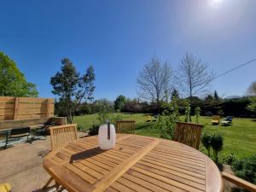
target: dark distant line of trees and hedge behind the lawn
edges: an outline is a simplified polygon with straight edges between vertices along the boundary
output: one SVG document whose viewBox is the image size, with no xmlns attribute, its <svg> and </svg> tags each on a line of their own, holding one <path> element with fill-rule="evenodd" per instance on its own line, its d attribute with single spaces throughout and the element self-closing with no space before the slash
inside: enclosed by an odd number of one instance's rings
<svg viewBox="0 0 256 192">
<path fill-rule="evenodd" d="M 124 96 L 123 96 L 124 97 Z M 125 97 L 124 97 L 125 98 Z M 194 114 L 195 108 L 201 108 L 201 115 L 212 116 L 235 116 L 235 117 L 255 117 L 255 113 L 247 110 L 247 105 L 250 103 L 249 97 L 239 97 L 222 99 L 215 98 L 213 96 L 207 96 L 205 99 L 201 99 L 197 96 L 192 98 L 186 98 L 190 101 L 191 114 Z M 185 99 L 178 99 L 179 113 L 184 113 L 184 101 Z M 62 116 L 61 105 L 55 103 L 55 114 Z M 98 113 L 102 110 L 108 110 L 110 112 L 123 112 L 123 113 L 161 113 L 165 110 L 165 102 L 161 105 L 160 112 L 156 102 L 141 102 L 138 99 L 126 99 L 117 97 L 114 102 L 110 102 L 107 99 L 96 100 L 91 103 L 83 103 L 81 107 L 76 111 L 75 115 Z"/>
</svg>

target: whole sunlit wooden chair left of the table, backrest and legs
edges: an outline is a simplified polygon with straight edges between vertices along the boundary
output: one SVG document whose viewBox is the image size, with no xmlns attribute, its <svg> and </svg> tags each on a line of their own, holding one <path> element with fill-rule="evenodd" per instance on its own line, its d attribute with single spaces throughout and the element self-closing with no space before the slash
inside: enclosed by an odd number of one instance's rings
<svg viewBox="0 0 256 192">
<path fill-rule="evenodd" d="M 51 150 L 57 150 L 62 146 L 78 139 L 77 125 L 58 125 L 51 126 L 50 131 L 50 142 Z M 60 186 L 59 183 L 55 181 L 55 185 L 49 187 L 49 183 L 55 180 L 53 177 L 50 177 L 47 183 L 42 188 L 43 191 L 49 191 L 49 189 L 56 188 L 56 191 L 62 191 L 64 188 Z"/>
</svg>

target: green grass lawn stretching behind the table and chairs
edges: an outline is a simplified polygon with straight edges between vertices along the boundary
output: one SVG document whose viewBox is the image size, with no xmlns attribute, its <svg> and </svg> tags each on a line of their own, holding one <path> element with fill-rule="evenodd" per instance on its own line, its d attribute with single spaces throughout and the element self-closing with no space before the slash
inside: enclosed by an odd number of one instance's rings
<svg viewBox="0 0 256 192">
<path fill-rule="evenodd" d="M 136 134 L 149 137 L 159 137 L 159 131 L 151 128 L 151 123 L 145 122 L 146 114 L 123 113 L 123 119 L 133 119 L 137 122 Z M 193 120 L 193 119 L 192 119 Z M 201 117 L 200 122 L 204 126 L 203 132 L 218 132 L 224 137 L 224 149 L 220 153 L 220 158 L 224 154 L 234 152 L 238 158 L 256 154 L 256 119 L 234 118 L 233 125 L 220 126 L 212 125 L 211 117 Z M 88 130 L 93 122 L 97 121 L 97 114 L 89 114 L 74 118 L 74 123 L 82 125 Z M 201 150 L 206 153 L 204 148 Z"/>
</svg>

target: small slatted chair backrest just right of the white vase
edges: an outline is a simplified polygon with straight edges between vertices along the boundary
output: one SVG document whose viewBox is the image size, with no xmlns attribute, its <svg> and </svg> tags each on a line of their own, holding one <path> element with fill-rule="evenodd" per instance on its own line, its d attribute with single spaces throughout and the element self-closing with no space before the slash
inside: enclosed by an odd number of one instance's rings
<svg viewBox="0 0 256 192">
<path fill-rule="evenodd" d="M 115 131 L 116 133 L 134 134 L 135 126 L 135 120 L 117 120 L 115 122 Z"/>
</svg>

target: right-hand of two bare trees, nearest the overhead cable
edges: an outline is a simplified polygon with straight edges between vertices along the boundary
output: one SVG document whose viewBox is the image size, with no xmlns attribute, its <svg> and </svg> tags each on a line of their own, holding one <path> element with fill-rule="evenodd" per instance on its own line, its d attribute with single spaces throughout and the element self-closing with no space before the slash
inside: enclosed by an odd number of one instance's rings
<svg viewBox="0 0 256 192">
<path fill-rule="evenodd" d="M 207 72 L 207 64 L 194 55 L 183 56 L 177 71 L 177 79 L 183 92 L 191 98 L 204 90 L 213 80 L 214 74 Z"/>
</svg>

